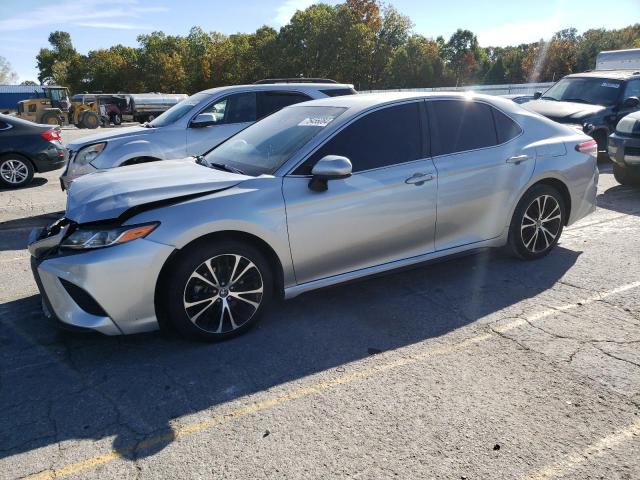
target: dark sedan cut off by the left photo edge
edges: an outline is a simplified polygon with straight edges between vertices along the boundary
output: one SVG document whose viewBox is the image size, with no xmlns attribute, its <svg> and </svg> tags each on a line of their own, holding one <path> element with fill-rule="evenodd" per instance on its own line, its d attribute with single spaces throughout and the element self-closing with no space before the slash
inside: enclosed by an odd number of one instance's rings
<svg viewBox="0 0 640 480">
<path fill-rule="evenodd" d="M 0 187 L 27 185 L 35 172 L 62 168 L 60 128 L 0 114 Z"/>
</svg>

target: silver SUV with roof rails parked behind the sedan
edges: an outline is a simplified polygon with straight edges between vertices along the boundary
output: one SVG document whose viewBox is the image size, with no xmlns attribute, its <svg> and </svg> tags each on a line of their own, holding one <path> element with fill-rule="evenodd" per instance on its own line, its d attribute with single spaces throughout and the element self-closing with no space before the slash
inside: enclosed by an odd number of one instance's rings
<svg viewBox="0 0 640 480">
<path fill-rule="evenodd" d="M 288 105 L 354 93 L 353 85 L 323 79 L 260 80 L 253 85 L 204 90 L 143 126 L 72 142 L 60 184 L 65 190 L 73 180 L 87 173 L 202 155 L 256 120 Z"/>
</svg>

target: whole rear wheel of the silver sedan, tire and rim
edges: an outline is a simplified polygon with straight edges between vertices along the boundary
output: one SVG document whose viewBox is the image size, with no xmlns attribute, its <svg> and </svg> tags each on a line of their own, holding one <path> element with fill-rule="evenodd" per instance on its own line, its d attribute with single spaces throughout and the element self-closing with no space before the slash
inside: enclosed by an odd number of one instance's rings
<svg viewBox="0 0 640 480">
<path fill-rule="evenodd" d="M 566 207 L 560 192 L 549 185 L 534 185 L 513 213 L 511 252 L 524 260 L 544 257 L 557 245 L 565 223 Z"/>
</svg>

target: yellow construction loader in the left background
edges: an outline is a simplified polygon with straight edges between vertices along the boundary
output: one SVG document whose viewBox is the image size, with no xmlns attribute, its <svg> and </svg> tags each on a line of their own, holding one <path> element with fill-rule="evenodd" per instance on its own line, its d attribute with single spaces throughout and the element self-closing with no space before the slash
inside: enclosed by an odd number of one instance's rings
<svg viewBox="0 0 640 480">
<path fill-rule="evenodd" d="M 18 102 L 18 117 L 49 125 L 73 124 L 91 129 L 100 126 L 97 102 L 71 102 L 67 87 L 47 85 L 43 88 L 43 97 Z"/>
</svg>

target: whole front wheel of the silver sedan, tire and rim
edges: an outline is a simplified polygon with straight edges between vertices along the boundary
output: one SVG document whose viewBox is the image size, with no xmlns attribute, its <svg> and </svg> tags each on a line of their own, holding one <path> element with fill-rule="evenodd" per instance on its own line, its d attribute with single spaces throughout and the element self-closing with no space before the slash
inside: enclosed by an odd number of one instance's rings
<svg viewBox="0 0 640 480">
<path fill-rule="evenodd" d="M 198 243 L 168 267 L 160 307 L 188 338 L 220 341 L 240 335 L 259 320 L 273 298 L 273 273 L 252 245 Z"/>
</svg>

